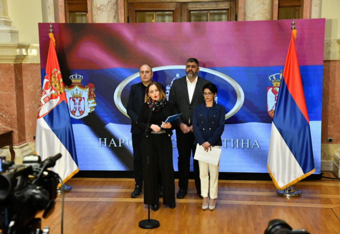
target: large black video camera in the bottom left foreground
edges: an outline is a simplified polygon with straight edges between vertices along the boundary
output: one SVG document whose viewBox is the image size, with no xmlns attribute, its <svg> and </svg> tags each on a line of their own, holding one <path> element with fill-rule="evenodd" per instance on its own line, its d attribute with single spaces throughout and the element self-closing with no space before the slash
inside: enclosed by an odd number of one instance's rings
<svg viewBox="0 0 340 234">
<path fill-rule="evenodd" d="M 22 164 L 0 159 L 0 234 L 49 232 L 48 227 L 41 231 L 41 219 L 34 216 L 53 212 L 59 175 L 47 168 L 60 158 L 59 153 L 41 162 L 40 156 L 26 156 Z"/>
</svg>

